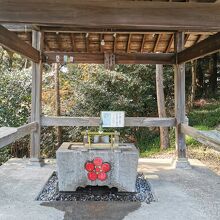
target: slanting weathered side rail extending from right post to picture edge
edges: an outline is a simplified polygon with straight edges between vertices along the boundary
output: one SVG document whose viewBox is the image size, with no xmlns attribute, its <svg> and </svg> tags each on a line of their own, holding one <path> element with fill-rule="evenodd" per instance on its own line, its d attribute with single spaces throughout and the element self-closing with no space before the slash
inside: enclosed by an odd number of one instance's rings
<svg viewBox="0 0 220 220">
<path fill-rule="evenodd" d="M 199 131 L 186 124 L 181 124 L 181 132 L 191 136 L 200 143 L 212 147 L 215 150 L 220 151 L 220 132 L 216 130 L 212 131 Z"/>
</svg>

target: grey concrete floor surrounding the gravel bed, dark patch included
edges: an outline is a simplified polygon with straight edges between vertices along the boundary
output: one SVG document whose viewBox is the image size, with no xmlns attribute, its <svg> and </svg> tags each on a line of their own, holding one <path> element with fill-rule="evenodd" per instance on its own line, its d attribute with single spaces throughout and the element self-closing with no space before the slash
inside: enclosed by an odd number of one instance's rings
<svg viewBox="0 0 220 220">
<path fill-rule="evenodd" d="M 198 160 L 192 169 L 174 169 L 172 159 L 140 159 L 139 171 L 150 181 L 156 202 L 53 202 L 35 201 L 55 169 L 27 159 L 10 159 L 0 167 L 1 220 L 217 220 L 220 219 L 220 176 Z"/>
</svg>

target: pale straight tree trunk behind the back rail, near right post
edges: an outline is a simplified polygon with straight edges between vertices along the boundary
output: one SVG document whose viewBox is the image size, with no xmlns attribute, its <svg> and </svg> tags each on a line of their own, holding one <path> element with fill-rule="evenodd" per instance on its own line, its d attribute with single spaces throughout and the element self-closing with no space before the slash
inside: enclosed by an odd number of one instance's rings
<svg viewBox="0 0 220 220">
<path fill-rule="evenodd" d="M 164 90 L 163 90 L 163 65 L 156 65 L 157 106 L 159 117 L 166 117 Z M 160 149 L 169 147 L 168 128 L 160 127 Z"/>
</svg>

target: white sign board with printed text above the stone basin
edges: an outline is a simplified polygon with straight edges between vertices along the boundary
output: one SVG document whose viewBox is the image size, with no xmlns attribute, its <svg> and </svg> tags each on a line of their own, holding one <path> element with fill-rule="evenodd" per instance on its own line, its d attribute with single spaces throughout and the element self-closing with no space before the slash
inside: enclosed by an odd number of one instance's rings
<svg viewBox="0 0 220 220">
<path fill-rule="evenodd" d="M 124 111 L 103 111 L 101 112 L 102 127 L 122 128 L 125 125 Z"/>
</svg>

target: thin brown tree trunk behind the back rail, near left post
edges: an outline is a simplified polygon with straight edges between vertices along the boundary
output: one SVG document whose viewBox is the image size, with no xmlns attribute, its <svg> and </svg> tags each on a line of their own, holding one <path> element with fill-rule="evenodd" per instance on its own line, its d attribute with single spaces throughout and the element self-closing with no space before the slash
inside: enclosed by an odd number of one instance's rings
<svg viewBox="0 0 220 220">
<path fill-rule="evenodd" d="M 60 82 L 59 82 L 59 66 L 54 64 L 54 80 L 55 80 L 55 111 L 56 116 L 60 116 Z M 62 128 L 57 127 L 57 148 L 62 144 Z"/>
</svg>

